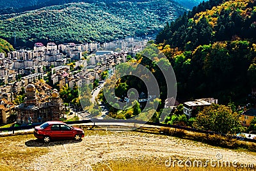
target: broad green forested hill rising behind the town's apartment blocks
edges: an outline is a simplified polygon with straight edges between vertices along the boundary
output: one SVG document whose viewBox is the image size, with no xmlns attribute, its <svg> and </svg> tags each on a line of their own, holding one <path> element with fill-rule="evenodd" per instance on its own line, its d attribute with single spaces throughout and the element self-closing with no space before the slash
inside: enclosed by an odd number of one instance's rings
<svg viewBox="0 0 256 171">
<path fill-rule="evenodd" d="M 16 33 L 17 46 L 28 47 L 36 41 L 111 41 L 157 33 L 186 10 L 168 0 L 62 4 L 0 15 L 0 35 L 13 43 Z"/>
</svg>

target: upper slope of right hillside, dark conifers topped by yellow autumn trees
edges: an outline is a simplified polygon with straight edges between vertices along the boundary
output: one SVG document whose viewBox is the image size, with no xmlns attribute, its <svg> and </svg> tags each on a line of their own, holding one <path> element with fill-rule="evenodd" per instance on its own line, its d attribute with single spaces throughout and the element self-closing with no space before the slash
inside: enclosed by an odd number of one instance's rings
<svg viewBox="0 0 256 171">
<path fill-rule="evenodd" d="M 204 3 L 200 8 L 211 6 L 212 1 Z M 198 45 L 232 40 L 234 36 L 256 40 L 255 21 L 256 1 L 227 1 L 213 6 L 210 10 L 183 15 L 170 26 L 166 26 L 158 34 L 156 41 L 193 50 Z"/>
</svg>

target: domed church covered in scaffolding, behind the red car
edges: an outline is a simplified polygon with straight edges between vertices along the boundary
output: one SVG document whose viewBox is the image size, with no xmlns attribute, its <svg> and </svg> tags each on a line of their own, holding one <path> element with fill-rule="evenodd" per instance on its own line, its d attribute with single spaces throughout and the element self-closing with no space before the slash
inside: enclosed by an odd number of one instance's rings
<svg viewBox="0 0 256 171">
<path fill-rule="evenodd" d="M 65 114 L 65 106 L 59 93 L 54 89 L 47 101 L 41 101 L 36 93 L 34 84 L 26 86 L 26 97 L 24 103 L 18 105 L 17 123 L 43 123 L 46 121 L 58 121 Z"/>
</svg>

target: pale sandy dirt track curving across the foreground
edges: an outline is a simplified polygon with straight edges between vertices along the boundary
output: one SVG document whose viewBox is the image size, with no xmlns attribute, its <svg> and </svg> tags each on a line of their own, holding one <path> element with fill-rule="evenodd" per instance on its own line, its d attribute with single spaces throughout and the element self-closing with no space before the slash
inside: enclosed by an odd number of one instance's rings
<svg viewBox="0 0 256 171">
<path fill-rule="evenodd" d="M 26 146 L 44 147 L 36 140 L 25 143 Z M 20 145 L 25 145 L 20 142 Z M 256 164 L 256 156 L 247 152 L 235 152 L 205 145 L 200 142 L 183 140 L 164 135 L 146 133 L 111 133 L 110 135 L 87 135 L 81 142 L 51 142 L 49 153 L 26 162 L 26 170 L 90 170 L 90 165 L 97 162 L 115 160 L 154 159 L 159 163 L 168 158 L 185 160 L 216 160 L 221 154 L 225 161 Z"/>
</svg>

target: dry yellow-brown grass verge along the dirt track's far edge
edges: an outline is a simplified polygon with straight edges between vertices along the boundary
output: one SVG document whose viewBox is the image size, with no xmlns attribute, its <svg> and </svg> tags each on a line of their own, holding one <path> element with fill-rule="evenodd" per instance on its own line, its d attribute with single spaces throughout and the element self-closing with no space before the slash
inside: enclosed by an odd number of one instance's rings
<svg viewBox="0 0 256 171">
<path fill-rule="evenodd" d="M 106 130 L 104 128 L 100 128 L 99 126 L 80 126 L 80 128 L 84 129 L 85 135 L 95 135 L 95 130 L 97 130 L 97 134 L 106 135 Z M 108 135 L 115 134 L 115 131 L 108 131 Z M 159 128 L 150 128 L 150 127 L 140 127 L 134 131 L 134 133 L 149 133 L 154 135 L 167 135 L 177 138 L 182 138 L 186 140 L 193 140 L 194 142 L 201 142 L 204 144 L 212 145 L 214 147 L 222 147 L 225 149 L 232 149 L 235 151 L 241 152 L 250 152 L 256 155 L 256 143 L 255 142 L 245 142 L 242 140 L 233 139 L 230 137 L 223 137 L 221 135 L 209 135 L 204 133 L 196 133 L 193 131 L 185 131 L 175 128 L 167 128 L 167 127 L 159 127 Z M 129 132 L 127 132 L 129 134 Z"/>
</svg>

